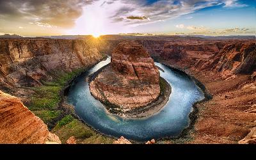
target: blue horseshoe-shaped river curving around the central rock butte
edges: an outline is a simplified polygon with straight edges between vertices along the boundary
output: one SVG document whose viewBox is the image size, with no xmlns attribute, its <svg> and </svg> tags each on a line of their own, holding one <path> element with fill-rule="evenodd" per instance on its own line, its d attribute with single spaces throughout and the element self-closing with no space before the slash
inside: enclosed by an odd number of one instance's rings
<svg viewBox="0 0 256 160">
<path fill-rule="evenodd" d="M 110 58 L 101 61 L 83 75 L 77 77 L 70 92 L 68 102 L 74 105 L 76 114 L 86 124 L 111 136 L 124 136 L 131 140 L 151 140 L 166 136 L 179 136 L 189 125 L 189 113 L 193 103 L 204 99 L 204 94 L 188 76 L 156 63 L 163 71 L 161 77 L 172 86 L 172 93 L 166 106 L 156 115 L 142 119 L 127 119 L 109 115 L 99 100 L 92 97 L 87 81 L 88 75 L 110 63 Z"/>
</svg>

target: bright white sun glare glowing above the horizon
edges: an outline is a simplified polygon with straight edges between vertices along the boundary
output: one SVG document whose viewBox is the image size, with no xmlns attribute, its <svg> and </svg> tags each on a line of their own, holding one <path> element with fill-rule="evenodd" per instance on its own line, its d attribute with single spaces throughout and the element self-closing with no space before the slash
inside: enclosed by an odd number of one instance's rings
<svg viewBox="0 0 256 160">
<path fill-rule="evenodd" d="M 72 29 L 67 30 L 68 35 L 93 35 L 97 38 L 100 35 L 111 35 L 116 33 L 125 33 L 127 27 L 122 22 L 113 22 L 115 10 L 120 6 L 120 2 L 111 4 L 113 10 L 109 10 L 109 5 L 104 0 L 95 1 L 88 6 L 84 6 L 83 15 L 76 20 L 76 25 Z"/>
</svg>

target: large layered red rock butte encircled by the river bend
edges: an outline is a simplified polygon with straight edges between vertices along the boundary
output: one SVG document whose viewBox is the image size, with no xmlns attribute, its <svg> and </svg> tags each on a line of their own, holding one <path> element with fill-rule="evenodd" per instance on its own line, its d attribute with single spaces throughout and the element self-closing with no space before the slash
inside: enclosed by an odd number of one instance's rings
<svg viewBox="0 0 256 160">
<path fill-rule="evenodd" d="M 96 99 L 122 109 L 147 106 L 159 96 L 159 70 L 140 44 L 120 42 L 111 64 L 90 83 L 90 91 Z"/>
</svg>

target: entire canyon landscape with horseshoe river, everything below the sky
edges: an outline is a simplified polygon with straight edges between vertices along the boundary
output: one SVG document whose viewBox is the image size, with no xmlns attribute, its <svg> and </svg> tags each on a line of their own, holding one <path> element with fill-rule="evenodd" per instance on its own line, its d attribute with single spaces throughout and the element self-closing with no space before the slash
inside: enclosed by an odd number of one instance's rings
<svg viewBox="0 0 256 160">
<path fill-rule="evenodd" d="M 255 143 L 254 40 L 100 40 L 1 38 L 0 143 Z"/>
</svg>

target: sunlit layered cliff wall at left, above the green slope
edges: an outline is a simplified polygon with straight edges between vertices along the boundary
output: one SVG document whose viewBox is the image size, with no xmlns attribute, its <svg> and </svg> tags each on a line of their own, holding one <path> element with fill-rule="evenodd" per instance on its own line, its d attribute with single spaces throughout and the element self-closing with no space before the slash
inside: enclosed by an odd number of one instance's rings
<svg viewBox="0 0 256 160">
<path fill-rule="evenodd" d="M 38 86 L 60 72 L 95 65 L 102 59 L 93 42 L 61 39 L 0 40 L 0 88 Z"/>
</svg>

